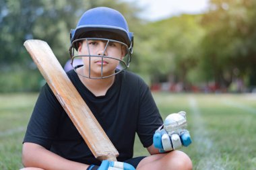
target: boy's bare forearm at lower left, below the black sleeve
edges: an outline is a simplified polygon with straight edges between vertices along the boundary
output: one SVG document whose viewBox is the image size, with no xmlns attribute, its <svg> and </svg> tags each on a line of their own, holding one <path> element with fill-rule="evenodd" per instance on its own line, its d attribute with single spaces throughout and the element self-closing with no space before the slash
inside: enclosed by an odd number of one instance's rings
<svg viewBox="0 0 256 170">
<path fill-rule="evenodd" d="M 24 167 L 38 167 L 49 170 L 85 170 L 89 167 L 89 165 L 86 164 L 64 159 L 48 151 L 46 148 L 30 142 L 23 144 L 22 163 Z"/>
</svg>

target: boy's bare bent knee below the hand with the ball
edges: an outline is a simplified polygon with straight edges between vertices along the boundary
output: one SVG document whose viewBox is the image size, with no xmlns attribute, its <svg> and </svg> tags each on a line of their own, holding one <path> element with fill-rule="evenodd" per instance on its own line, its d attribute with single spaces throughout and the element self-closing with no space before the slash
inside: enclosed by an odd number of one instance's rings
<svg viewBox="0 0 256 170">
<path fill-rule="evenodd" d="M 189 157 L 181 151 L 150 155 L 142 159 L 137 166 L 138 170 L 190 170 L 192 162 Z"/>
</svg>

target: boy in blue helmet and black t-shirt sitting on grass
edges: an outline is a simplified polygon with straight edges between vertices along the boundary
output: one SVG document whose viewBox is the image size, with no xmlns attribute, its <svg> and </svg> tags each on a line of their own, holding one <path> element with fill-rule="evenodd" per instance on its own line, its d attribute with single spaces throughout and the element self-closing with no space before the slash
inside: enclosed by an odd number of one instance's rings
<svg viewBox="0 0 256 170">
<path fill-rule="evenodd" d="M 154 147 L 152 138 L 162 118 L 146 83 L 125 71 L 132 52 L 133 34 L 123 15 L 107 7 L 90 9 L 71 30 L 71 57 L 82 57 L 84 65 L 67 75 L 119 151 L 122 169 L 192 169 L 185 153 L 159 153 Z M 122 69 L 117 69 L 119 64 Z M 136 132 L 150 156 L 133 158 Z M 42 87 L 30 118 L 22 162 L 27 170 L 113 166 L 94 158 L 48 85 Z"/>
</svg>

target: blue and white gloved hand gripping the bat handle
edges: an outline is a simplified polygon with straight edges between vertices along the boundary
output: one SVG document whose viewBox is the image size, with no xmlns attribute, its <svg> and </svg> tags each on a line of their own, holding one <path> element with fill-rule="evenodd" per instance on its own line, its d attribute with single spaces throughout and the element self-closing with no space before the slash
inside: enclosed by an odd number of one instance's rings
<svg viewBox="0 0 256 170">
<path fill-rule="evenodd" d="M 135 170 L 135 168 L 129 163 L 104 160 L 100 167 L 97 165 L 90 165 L 87 170 Z"/>
</svg>

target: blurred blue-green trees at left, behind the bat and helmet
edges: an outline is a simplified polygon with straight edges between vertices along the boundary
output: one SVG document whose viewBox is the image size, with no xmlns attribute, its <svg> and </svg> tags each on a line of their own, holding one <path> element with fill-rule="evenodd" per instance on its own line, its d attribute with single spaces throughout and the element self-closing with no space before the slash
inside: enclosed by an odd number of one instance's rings
<svg viewBox="0 0 256 170">
<path fill-rule="evenodd" d="M 62 65 L 69 58 L 69 32 L 75 28 L 79 17 L 92 7 L 106 6 L 121 11 L 127 18 L 131 30 L 137 28 L 139 9 L 118 0 L 1 0 L 0 1 L 0 91 L 15 91 L 32 87 L 29 82 L 20 83 L 36 70 L 32 59 L 23 46 L 25 40 L 40 39 L 48 42 Z M 5 74 L 10 73 L 11 74 Z M 23 76 L 18 76 L 20 73 Z M 8 77 L 7 77 L 8 75 Z M 19 77 L 19 80 L 10 76 Z M 37 79 L 34 75 L 34 79 Z M 38 78 L 39 79 L 39 78 Z M 9 82 L 8 82 L 9 81 Z M 7 87 L 6 84 L 9 84 Z M 38 83 L 40 84 L 40 83 Z M 11 87 L 15 87 L 11 88 Z M 39 87 L 38 87 L 39 88 Z"/>
</svg>

